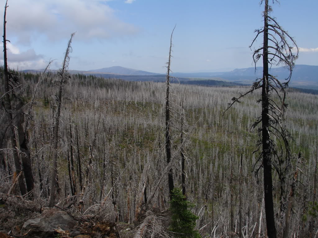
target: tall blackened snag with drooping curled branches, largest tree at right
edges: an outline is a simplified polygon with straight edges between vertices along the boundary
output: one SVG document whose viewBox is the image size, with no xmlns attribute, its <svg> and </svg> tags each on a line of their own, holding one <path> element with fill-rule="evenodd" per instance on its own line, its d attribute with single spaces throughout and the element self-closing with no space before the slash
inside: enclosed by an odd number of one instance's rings
<svg viewBox="0 0 318 238">
<path fill-rule="evenodd" d="M 261 151 L 258 161 L 262 161 L 262 164 L 256 172 L 261 167 L 264 168 L 264 201 L 267 235 L 269 238 L 276 238 L 272 168 L 274 167 L 277 171 L 280 182 L 284 183 L 284 173 L 286 173 L 288 164 L 290 163 L 290 148 L 288 143 L 290 134 L 281 122 L 285 119 L 284 113 L 287 108 L 287 104 L 285 103 L 286 88 L 292 75 L 294 61 L 298 57 L 298 48 L 294 39 L 288 35 L 287 31 L 277 23 L 275 18 L 269 16 L 272 8 L 268 5 L 268 0 L 262 0 L 261 3 L 263 2 L 265 3 L 264 27 L 255 30 L 257 34 L 252 41 L 253 44 L 263 34 L 263 44 L 254 50 L 253 53 L 255 67 L 259 59 L 263 59 L 263 77 L 257 79 L 248 92 L 241 94 L 239 98 L 233 97 L 228 109 L 235 102 L 239 102 L 240 98 L 246 94 L 256 89 L 262 90 L 261 98 L 258 100 L 258 102 L 261 102 L 261 116 L 252 125 L 253 128 L 256 128 L 261 124 L 261 127 L 258 129 L 259 141 L 257 142 L 256 151 Z M 252 47 L 252 44 L 250 47 Z M 281 82 L 276 76 L 269 73 L 269 68 L 273 64 L 279 65 L 281 63 L 286 65 L 290 71 L 285 82 Z M 274 100 L 272 93 L 277 96 L 278 100 Z M 283 164 L 285 164 L 284 169 L 282 169 Z"/>
</svg>

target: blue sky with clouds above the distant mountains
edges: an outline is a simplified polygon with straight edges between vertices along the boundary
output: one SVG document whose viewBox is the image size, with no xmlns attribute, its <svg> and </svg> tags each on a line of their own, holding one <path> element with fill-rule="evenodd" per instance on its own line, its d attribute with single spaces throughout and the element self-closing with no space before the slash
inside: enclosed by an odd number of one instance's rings
<svg viewBox="0 0 318 238">
<path fill-rule="evenodd" d="M 272 3 L 272 1 L 270 0 Z M 2 3 L 4 12 L 5 1 Z M 173 72 L 253 67 L 249 46 L 263 25 L 259 0 L 8 0 L 10 68 L 58 69 L 71 33 L 69 69 L 122 66 L 166 72 L 173 33 Z M 318 1 L 280 0 L 272 17 L 293 36 L 296 64 L 318 65 Z M 0 24 L 3 25 L 3 17 Z M 0 57 L 3 64 L 3 56 Z"/>
</svg>

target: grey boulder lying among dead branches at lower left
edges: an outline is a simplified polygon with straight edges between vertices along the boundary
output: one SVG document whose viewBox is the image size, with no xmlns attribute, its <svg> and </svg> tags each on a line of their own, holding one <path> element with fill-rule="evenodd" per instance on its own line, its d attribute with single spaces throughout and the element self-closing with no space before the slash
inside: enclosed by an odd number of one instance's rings
<svg viewBox="0 0 318 238">
<path fill-rule="evenodd" d="M 52 236 L 54 229 L 70 230 L 75 224 L 76 221 L 67 212 L 52 208 L 45 210 L 40 218 L 24 222 L 22 232 L 45 238 Z"/>
</svg>

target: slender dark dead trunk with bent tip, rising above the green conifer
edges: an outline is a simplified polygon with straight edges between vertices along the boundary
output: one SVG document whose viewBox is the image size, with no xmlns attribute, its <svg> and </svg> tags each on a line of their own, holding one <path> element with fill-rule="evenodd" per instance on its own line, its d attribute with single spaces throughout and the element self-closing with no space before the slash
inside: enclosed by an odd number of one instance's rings
<svg viewBox="0 0 318 238">
<path fill-rule="evenodd" d="M 170 107 L 169 107 L 169 89 L 170 89 L 170 63 L 171 63 L 171 48 L 172 48 L 172 35 L 176 26 L 173 28 L 170 36 L 170 48 L 169 48 L 169 60 L 167 63 L 167 90 L 166 90 L 166 157 L 167 164 L 170 163 L 171 160 L 171 135 L 170 135 Z M 172 168 L 169 169 L 168 172 L 168 183 L 169 183 L 169 196 L 172 195 L 172 190 L 174 188 L 173 185 L 173 176 L 172 176 Z"/>
</svg>

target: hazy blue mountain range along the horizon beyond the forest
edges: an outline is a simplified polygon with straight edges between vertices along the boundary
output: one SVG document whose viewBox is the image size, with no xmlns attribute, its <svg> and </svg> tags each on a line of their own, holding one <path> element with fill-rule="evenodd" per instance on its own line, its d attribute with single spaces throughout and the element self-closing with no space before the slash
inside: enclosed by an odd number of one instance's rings
<svg viewBox="0 0 318 238">
<path fill-rule="evenodd" d="M 24 70 L 24 72 L 37 73 L 40 70 Z M 51 70 L 52 72 L 56 70 Z M 164 82 L 166 80 L 165 74 L 156 74 L 142 70 L 129 69 L 121 66 L 113 66 L 109 68 L 94 69 L 88 71 L 69 70 L 71 74 L 95 75 L 104 78 L 121 78 L 127 81 L 157 81 Z M 271 68 L 270 73 L 277 76 L 281 81 L 288 77 L 289 71 L 286 67 Z M 187 82 L 189 84 L 200 85 L 220 85 L 225 83 L 213 82 L 227 81 L 235 83 L 251 85 L 255 79 L 261 78 L 263 74 L 263 67 L 251 67 L 245 69 L 234 69 L 229 72 L 199 72 L 199 73 L 172 73 L 171 75 L 178 78 L 180 82 Z M 204 80 L 212 80 L 205 81 Z M 200 82 L 202 81 L 202 82 Z M 313 65 L 295 65 L 293 69 L 292 78 L 289 84 L 290 87 L 302 89 L 318 90 L 318 66 Z"/>
</svg>

